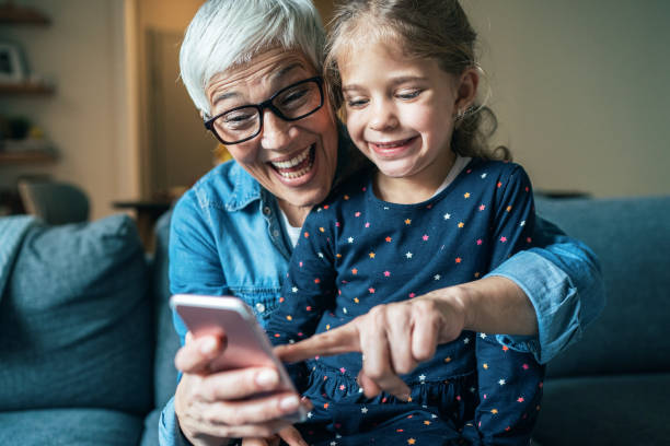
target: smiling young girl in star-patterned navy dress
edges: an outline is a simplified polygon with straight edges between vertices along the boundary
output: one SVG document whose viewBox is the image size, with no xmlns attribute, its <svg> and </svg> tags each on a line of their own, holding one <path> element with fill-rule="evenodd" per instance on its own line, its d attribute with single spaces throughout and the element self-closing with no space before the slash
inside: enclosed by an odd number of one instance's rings
<svg viewBox="0 0 670 446">
<path fill-rule="evenodd" d="M 353 141 L 376 167 L 307 219 L 268 322 L 277 344 L 481 278 L 527 247 L 533 231 L 528 176 L 484 145 L 489 111 L 473 104 L 476 35 L 458 1 L 349 1 L 333 23 L 331 84 Z M 544 373 L 530 353 L 463 331 L 402 376 L 404 400 L 367 398 L 356 379 L 363 360 L 347 353 L 292 366 L 314 404 L 299 426 L 308 443 L 530 441 Z"/>
</svg>

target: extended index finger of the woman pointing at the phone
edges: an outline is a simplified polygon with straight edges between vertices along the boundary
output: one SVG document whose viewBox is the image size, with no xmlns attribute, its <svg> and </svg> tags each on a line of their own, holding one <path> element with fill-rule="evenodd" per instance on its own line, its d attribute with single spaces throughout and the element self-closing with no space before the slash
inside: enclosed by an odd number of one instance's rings
<svg viewBox="0 0 670 446">
<path fill-rule="evenodd" d="M 314 334 L 304 341 L 275 348 L 277 356 L 288 363 L 309 360 L 316 355 L 332 356 L 360 351 L 359 331 L 355 321 L 323 333 Z"/>
</svg>

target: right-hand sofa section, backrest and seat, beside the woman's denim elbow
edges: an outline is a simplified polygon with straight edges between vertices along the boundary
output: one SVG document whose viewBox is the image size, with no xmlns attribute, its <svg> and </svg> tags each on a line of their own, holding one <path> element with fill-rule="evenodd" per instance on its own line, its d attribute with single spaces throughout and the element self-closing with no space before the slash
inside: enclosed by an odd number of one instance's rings
<svg viewBox="0 0 670 446">
<path fill-rule="evenodd" d="M 598 255 L 607 304 L 547 366 L 542 446 L 670 445 L 670 197 L 538 200 Z"/>
</svg>

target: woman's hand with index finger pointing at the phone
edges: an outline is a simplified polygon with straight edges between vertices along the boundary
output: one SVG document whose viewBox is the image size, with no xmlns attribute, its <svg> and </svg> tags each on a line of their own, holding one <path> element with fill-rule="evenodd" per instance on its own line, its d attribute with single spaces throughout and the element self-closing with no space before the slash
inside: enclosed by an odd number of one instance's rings
<svg viewBox="0 0 670 446">
<path fill-rule="evenodd" d="M 361 352 L 358 383 L 366 396 L 383 390 L 406 400 L 409 388 L 397 375 L 412 372 L 435 355 L 438 344 L 459 337 L 466 324 L 464 301 L 465 292 L 451 286 L 379 305 L 342 327 L 276 347 L 275 353 L 285 362 L 298 362 L 315 355 Z"/>
</svg>

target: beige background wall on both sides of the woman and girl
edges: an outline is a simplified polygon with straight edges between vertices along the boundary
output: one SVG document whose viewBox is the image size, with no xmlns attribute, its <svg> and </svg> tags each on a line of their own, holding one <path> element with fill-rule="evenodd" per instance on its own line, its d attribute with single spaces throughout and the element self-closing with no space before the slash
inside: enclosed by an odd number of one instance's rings
<svg viewBox="0 0 670 446">
<path fill-rule="evenodd" d="M 324 0 L 320 9 L 331 10 Z M 51 97 L 0 97 L 61 153 L 50 166 L 0 166 L 0 187 L 45 172 L 80 184 L 93 218 L 137 198 L 147 175 L 143 31 L 183 32 L 199 0 L 21 0 L 48 27 L 2 26 L 33 71 L 51 77 Z M 464 0 L 483 40 L 498 141 L 540 189 L 599 197 L 670 192 L 670 2 L 665 0 Z M 128 25 L 129 24 L 129 25 Z M 145 163 L 147 161 L 145 160 Z M 146 165 L 143 166 L 147 167 Z M 146 185 L 145 185 L 146 190 Z"/>
</svg>

